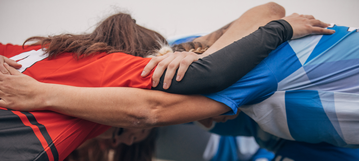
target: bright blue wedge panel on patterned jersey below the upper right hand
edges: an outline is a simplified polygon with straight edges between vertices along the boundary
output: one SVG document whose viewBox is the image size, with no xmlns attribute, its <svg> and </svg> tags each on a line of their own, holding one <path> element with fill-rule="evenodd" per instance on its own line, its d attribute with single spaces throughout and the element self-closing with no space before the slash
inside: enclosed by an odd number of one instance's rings
<svg viewBox="0 0 359 161">
<path fill-rule="evenodd" d="M 309 55 L 307 61 L 304 63 L 308 63 L 313 58 L 317 57 L 320 53 L 324 52 L 326 49 L 330 48 L 334 45 L 338 40 L 344 37 L 346 34 L 350 33 L 348 27 L 346 26 L 337 26 L 335 25 L 333 28 L 329 28 L 335 30 L 335 33 L 332 35 L 323 35 L 317 46 L 314 48 L 311 55 Z"/>
</svg>

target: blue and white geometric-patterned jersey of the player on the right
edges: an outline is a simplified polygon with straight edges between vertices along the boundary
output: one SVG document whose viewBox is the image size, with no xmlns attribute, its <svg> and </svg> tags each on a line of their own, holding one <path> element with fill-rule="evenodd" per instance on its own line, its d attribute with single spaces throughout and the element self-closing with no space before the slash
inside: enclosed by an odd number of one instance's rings
<svg viewBox="0 0 359 161">
<path fill-rule="evenodd" d="M 359 147 L 359 32 L 289 40 L 229 88 L 206 97 L 286 140 Z"/>
</svg>

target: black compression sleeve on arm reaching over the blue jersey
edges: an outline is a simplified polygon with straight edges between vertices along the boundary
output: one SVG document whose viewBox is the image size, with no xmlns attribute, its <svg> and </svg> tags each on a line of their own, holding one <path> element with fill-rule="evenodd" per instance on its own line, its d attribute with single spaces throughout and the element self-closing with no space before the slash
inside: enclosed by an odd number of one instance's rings
<svg viewBox="0 0 359 161">
<path fill-rule="evenodd" d="M 193 62 L 183 79 L 180 82 L 172 79 L 168 89 L 163 89 L 162 86 L 165 70 L 158 86 L 152 89 L 177 94 L 222 91 L 250 72 L 272 50 L 290 40 L 292 35 L 292 26 L 287 21 L 271 21 L 252 34 Z"/>
</svg>

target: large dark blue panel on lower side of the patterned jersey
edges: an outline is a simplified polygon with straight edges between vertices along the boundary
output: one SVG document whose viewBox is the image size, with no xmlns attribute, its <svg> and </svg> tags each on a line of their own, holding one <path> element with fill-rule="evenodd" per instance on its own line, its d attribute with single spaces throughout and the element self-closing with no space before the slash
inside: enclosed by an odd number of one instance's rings
<svg viewBox="0 0 359 161">
<path fill-rule="evenodd" d="M 327 117 L 318 91 L 286 91 L 285 110 L 290 135 L 296 141 L 346 145 Z"/>
</svg>

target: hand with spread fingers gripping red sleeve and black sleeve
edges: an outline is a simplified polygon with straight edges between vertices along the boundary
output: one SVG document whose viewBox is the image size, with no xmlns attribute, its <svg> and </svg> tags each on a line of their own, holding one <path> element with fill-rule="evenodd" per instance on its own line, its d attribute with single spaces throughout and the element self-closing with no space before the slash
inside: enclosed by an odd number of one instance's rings
<svg viewBox="0 0 359 161">
<path fill-rule="evenodd" d="M 192 64 L 192 62 L 197 61 L 199 58 L 203 58 L 203 56 L 194 52 L 174 52 L 154 57 L 143 69 L 141 76 L 146 77 L 158 64 L 152 75 L 152 87 L 156 87 L 164 70 L 167 68 L 163 81 L 163 89 L 168 89 L 169 86 L 171 86 L 172 78 L 176 73 L 177 68 L 178 72 L 176 81 L 181 81 L 188 67 Z"/>
</svg>

